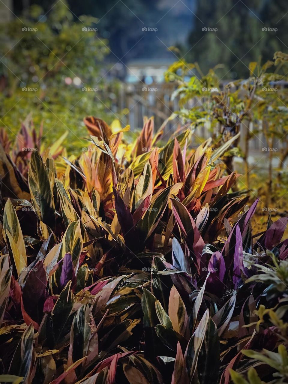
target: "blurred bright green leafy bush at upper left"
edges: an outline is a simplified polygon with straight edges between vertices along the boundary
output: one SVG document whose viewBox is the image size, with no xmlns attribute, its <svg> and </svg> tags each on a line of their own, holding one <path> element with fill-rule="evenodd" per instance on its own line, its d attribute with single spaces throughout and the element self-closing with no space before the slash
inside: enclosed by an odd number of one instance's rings
<svg viewBox="0 0 288 384">
<path fill-rule="evenodd" d="M 0 26 L 0 125 L 15 132 L 32 112 L 36 127 L 44 121 L 50 142 L 68 130 L 68 148 L 77 142 L 83 146 L 85 141 L 79 140 L 86 136 L 83 117 L 105 118 L 109 108 L 108 97 L 104 100 L 99 94 L 108 41 L 93 30 L 95 21 L 87 16 L 74 21 L 67 4 L 60 1 L 46 14 L 32 5 Z"/>
</svg>

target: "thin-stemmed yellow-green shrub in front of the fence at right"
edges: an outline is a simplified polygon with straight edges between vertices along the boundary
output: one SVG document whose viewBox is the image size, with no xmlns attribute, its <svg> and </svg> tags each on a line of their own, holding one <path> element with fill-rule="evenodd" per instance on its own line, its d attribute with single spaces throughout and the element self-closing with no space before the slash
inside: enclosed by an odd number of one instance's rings
<svg viewBox="0 0 288 384">
<path fill-rule="evenodd" d="M 272 193 L 277 194 L 277 188 L 273 190 L 272 186 L 273 179 L 276 179 L 275 175 L 278 174 L 278 182 L 284 182 L 287 174 L 285 167 L 288 158 L 288 91 L 285 86 L 287 63 L 288 55 L 276 52 L 273 61 L 267 61 L 263 65 L 260 60 L 250 63 L 250 76 L 247 79 L 237 79 L 226 84 L 223 84 L 222 78 L 217 75 L 221 66 L 216 66 L 207 74 L 203 74 L 197 63 L 189 64 L 185 60 L 180 60 L 166 72 L 166 81 L 178 83 L 172 98 L 179 98 L 179 116 L 184 121 L 192 122 L 196 127 L 203 124 L 209 126 L 214 147 L 217 148 L 231 137 L 237 136 L 241 127 L 243 129 L 246 127 L 242 131 L 241 149 L 238 146 L 240 140 L 238 138 L 223 160 L 228 172 L 232 172 L 233 156 L 243 157 L 245 185 L 248 189 L 252 189 L 251 165 L 248 164 L 250 139 L 258 137 L 260 146 L 271 149 L 270 151 L 266 149 L 269 163 L 266 192 L 269 197 Z M 250 123 L 253 124 L 253 131 L 250 129 Z M 273 149 L 275 146 L 277 152 Z M 278 167 L 274 167 L 274 170 L 273 154 L 275 160 L 278 160 Z M 262 155 L 264 156 L 265 152 L 262 152 Z M 277 187 L 279 189 L 279 185 Z M 269 204 L 267 198 L 266 206 Z"/>
</svg>

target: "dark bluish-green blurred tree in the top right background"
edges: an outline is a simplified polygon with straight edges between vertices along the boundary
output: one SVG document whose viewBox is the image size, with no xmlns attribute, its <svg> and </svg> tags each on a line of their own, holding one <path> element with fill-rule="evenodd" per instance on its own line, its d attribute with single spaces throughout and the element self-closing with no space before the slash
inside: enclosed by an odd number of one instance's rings
<svg viewBox="0 0 288 384">
<path fill-rule="evenodd" d="M 197 61 L 204 73 L 223 63 L 223 78 L 246 77 L 249 62 L 260 56 L 263 61 L 271 60 L 275 51 L 287 48 L 285 0 L 197 0 L 196 9 L 188 47 L 182 46 L 181 53 L 187 61 Z"/>
</svg>

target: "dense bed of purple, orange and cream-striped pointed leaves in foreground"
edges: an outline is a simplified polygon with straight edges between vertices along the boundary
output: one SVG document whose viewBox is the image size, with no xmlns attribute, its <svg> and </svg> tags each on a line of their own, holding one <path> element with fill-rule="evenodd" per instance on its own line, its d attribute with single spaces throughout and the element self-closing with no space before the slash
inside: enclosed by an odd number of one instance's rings
<svg viewBox="0 0 288 384">
<path fill-rule="evenodd" d="M 252 234 L 234 138 L 84 124 L 80 157 L 35 148 L 28 174 L 1 150 L 0 381 L 286 382 L 288 219 Z"/>
</svg>

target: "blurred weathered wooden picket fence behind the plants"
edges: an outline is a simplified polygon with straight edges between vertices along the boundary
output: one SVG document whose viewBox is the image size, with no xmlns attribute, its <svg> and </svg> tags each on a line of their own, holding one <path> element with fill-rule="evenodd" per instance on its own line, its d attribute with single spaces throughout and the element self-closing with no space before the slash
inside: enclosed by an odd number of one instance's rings
<svg viewBox="0 0 288 384">
<path fill-rule="evenodd" d="M 225 84 L 222 84 L 222 86 Z M 281 87 L 286 86 L 281 84 Z M 220 87 L 221 88 L 221 87 Z M 278 88 L 280 88 L 278 86 Z M 175 98 L 171 101 L 171 94 L 176 89 L 175 84 L 172 83 L 156 83 L 147 86 L 146 84 L 122 84 L 114 101 L 112 103 L 112 111 L 120 114 L 121 111 L 126 109 L 126 113 L 122 114 L 121 121 L 129 124 L 131 129 L 139 129 L 143 126 L 144 116 L 154 116 L 156 130 L 161 126 L 165 119 L 167 119 L 173 112 L 179 109 L 178 99 Z M 190 101 L 189 107 L 191 108 L 199 99 L 194 98 Z M 165 127 L 164 134 L 168 139 L 170 134 L 177 129 L 181 124 L 179 118 L 169 121 Z M 263 148 L 267 148 L 268 144 L 262 132 L 262 122 L 243 121 L 240 126 L 240 149 L 244 149 L 245 136 L 249 129 L 252 138 L 249 141 L 249 152 L 251 154 L 262 154 Z M 201 139 L 208 139 L 212 135 L 212 131 L 208 123 L 197 127 L 195 130 L 195 145 L 199 144 Z M 275 139 L 273 147 L 276 151 L 280 150 L 282 142 Z"/>
</svg>

